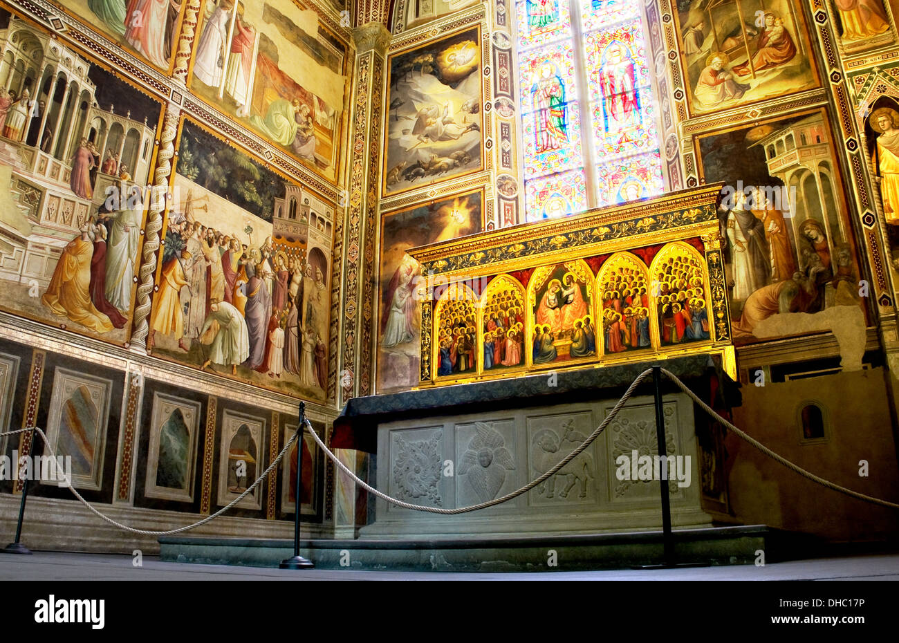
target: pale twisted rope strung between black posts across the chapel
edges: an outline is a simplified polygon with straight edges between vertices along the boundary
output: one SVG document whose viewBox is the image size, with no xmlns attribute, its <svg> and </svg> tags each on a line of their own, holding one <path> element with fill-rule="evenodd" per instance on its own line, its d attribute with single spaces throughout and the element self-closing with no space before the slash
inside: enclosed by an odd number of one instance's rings
<svg viewBox="0 0 899 643">
<path fill-rule="evenodd" d="M 749 442 L 750 444 L 752 444 L 753 447 L 755 447 L 756 449 L 761 451 L 763 454 L 770 457 L 772 460 L 778 461 L 780 464 L 787 467 L 788 469 L 791 469 L 792 471 L 795 471 L 800 476 L 803 476 L 804 478 L 808 478 L 809 480 L 812 480 L 813 482 L 816 482 L 819 485 L 822 485 L 823 487 L 832 489 L 833 491 L 837 491 L 837 492 L 840 492 L 841 494 L 845 494 L 847 496 L 858 498 L 859 500 L 864 500 L 866 502 L 873 503 L 875 505 L 881 505 L 881 506 L 886 506 L 886 507 L 890 507 L 893 509 L 899 509 L 899 504 L 891 503 L 886 500 L 881 500 L 881 499 L 875 498 L 873 496 L 867 496 L 865 494 L 859 493 L 858 491 L 852 491 L 851 489 L 849 489 L 847 487 L 841 487 L 840 485 L 830 482 L 829 480 L 825 480 L 824 478 L 816 476 L 811 471 L 807 471 L 806 469 L 803 469 L 802 467 L 798 466 L 794 462 L 791 462 L 791 461 L 787 460 L 786 458 L 780 456 L 779 454 L 775 453 L 774 451 L 771 451 L 764 444 L 755 440 L 751 435 L 743 432 L 741 429 L 734 426 L 734 424 L 731 424 L 729 421 L 725 420 L 724 417 L 722 417 L 721 415 L 718 415 L 715 412 L 715 410 L 712 409 L 711 406 L 708 406 L 708 404 L 706 404 L 698 395 L 696 395 L 696 393 L 694 393 L 692 390 L 690 390 L 690 388 L 688 388 L 686 384 L 684 384 L 681 380 L 679 380 L 678 377 L 676 375 L 674 375 L 671 371 L 666 371 L 665 369 L 661 369 L 661 371 L 665 377 L 667 377 L 669 380 L 672 380 L 672 382 L 674 382 L 674 384 L 678 388 L 680 388 L 684 393 L 686 393 L 687 396 L 690 397 L 690 399 L 692 399 L 697 405 L 699 405 L 699 407 L 702 408 L 706 413 L 708 413 L 708 415 L 710 415 L 718 423 L 723 424 L 727 429 L 733 431 L 738 437 L 743 439 L 745 442 Z M 345 473 L 350 478 L 352 478 L 352 480 L 357 485 L 359 485 L 360 487 L 362 487 L 369 493 L 374 494 L 375 496 L 378 496 L 382 500 L 385 500 L 392 505 L 404 507 L 405 509 L 411 509 L 411 510 L 420 511 L 420 512 L 427 512 L 430 514 L 444 514 L 444 515 L 467 514 L 469 512 L 478 511 L 480 509 L 485 509 L 487 507 L 491 507 L 494 505 L 501 505 L 505 502 L 508 502 L 509 500 L 512 500 L 512 498 L 516 498 L 518 496 L 521 496 L 521 494 L 527 493 L 528 491 L 530 491 L 530 489 L 539 486 L 541 483 L 546 481 L 548 478 L 551 478 L 552 476 L 556 475 L 556 473 L 558 473 L 558 471 L 560 469 L 565 467 L 565 465 L 568 464 L 571 460 L 574 460 L 574 458 L 576 458 L 578 455 L 580 455 L 582 451 L 584 451 L 588 446 L 590 446 L 592 444 L 592 442 L 594 440 L 596 440 L 596 438 L 598 438 L 600 436 L 600 434 L 606 429 L 606 427 L 615 418 L 615 416 L 618 415 L 621 408 L 628 402 L 628 399 L 630 399 L 630 397 L 633 396 L 634 391 L 636 390 L 637 386 L 639 386 L 640 383 L 643 380 L 645 380 L 647 377 L 652 375 L 652 372 L 653 372 L 652 369 L 646 369 L 645 371 L 640 373 L 636 377 L 636 380 L 634 380 L 631 383 L 631 385 L 628 387 L 628 390 L 625 391 L 624 395 L 615 404 L 615 406 L 613 406 L 611 408 L 609 415 L 606 415 L 606 418 L 602 421 L 602 423 L 599 426 L 596 427 L 596 429 L 593 431 L 593 433 L 591 433 L 583 442 L 581 442 L 581 444 L 576 449 L 574 449 L 574 451 L 569 453 L 562 460 L 559 460 L 552 469 L 547 470 L 547 472 L 544 473 L 543 475 L 541 475 L 539 478 L 531 480 L 530 483 L 528 483 L 524 487 L 520 487 L 520 488 L 516 489 L 515 491 L 512 491 L 512 492 L 506 494 L 505 496 L 502 496 L 499 498 L 494 498 L 494 500 L 490 500 L 490 501 L 484 502 L 484 503 L 479 503 L 477 505 L 458 507 L 456 509 L 444 509 L 442 507 L 429 507 L 429 506 L 424 506 L 424 505 L 413 505 L 412 503 L 407 503 L 403 500 L 399 500 L 397 498 L 387 496 L 387 494 L 385 494 L 381 491 L 378 491 L 378 489 L 376 489 L 375 487 L 371 487 L 367 482 L 360 479 L 358 476 L 356 476 L 355 473 L 352 472 L 352 470 L 350 470 L 346 465 L 344 465 L 343 462 L 341 462 L 340 459 L 337 458 L 336 455 L 334 455 L 334 452 L 325 446 L 325 442 L 322 442 L 322 439 L 320 437 L 318 437 L 318 435 L 312 428 L 312 424 L 308 420 L 304 420 L 303 426 L 304 426 L 304 428 L 308 429 L 310 435 L 312 436 L 313 440 L 316 441 L 316 444 L 318 445 L 318 447 L 322 451 L 325 452 L 325 455 L 327 455 L 327 457 L 330 458 L 334 462 L 334 464 L 337 466 L 338 469 L 340 469 L 341 471 L 343 471 L 343 473 Z M 0 437 L 5 436 L 5 435 L 14 435 L 17 433 L 27 433 L 32 430 L 37 432 L 40 435 L 40 438 L 44 441 L 44 444 L 46 445 L 46 447 L 50 453 L 50 456 L 55 459 L 56 453 L 54 453 L 52 447 L 50 446 L 47 436 L 38 427 L 30 427 L 30 428 L 25 428 L 25 429 L 18 429 L 16 431 L 0 433 Z M 122 524 L 121 522 L 117 522 L 117 521 L 113 520 L 112 518 L 110 518 L 109 516 L 104 515 L 100 511 L 95 509 L 93 507 L 93 505 L 91 505 L 89 502 L 87 502 L 85 500 L 85 498 L 83 496 L 81 496 L 81 494 L 78 493 L 76 488 L 72 486 L 71 479 L 66 478 L 66 483 L 67 483 L 66 486 L 76 496 L 76 498 L 79 501 L 81 501 L 81 503 L 83 505 L 85 505 L 93 514 L 95 514 L 102 520 L 109 522 L 111 525 L 113 525 L 115 527 L 118 527 L 124 531 L 130 531 L 131 533 L 138 533 L 138 534 L 143 534 L 143 535 L 147 535 L 147 536 L 171 535 L 174 533 L 180 533 L 182 531 L 189 531 L 191 529 L 195 529 L 197 527 L 200 527 L 200 525 L 203 525 L 203 524 L 206 524 L 207 522 L 215 520 L 221 514 L 225 514 L 229 509 L 231 509 L 231 507 L 233 507 L 234 505 L 239 503 L 241 500 L 243 500 L 247 495 L 252 493 L 253 490 L 262 483 L 263 479 L 268 478 L 268 476 L 271 474 L 271 471 L 274 470 L 278 466 L 280 460 L 284 457 L 284 454 L 287 453 L 290 446 L 294 442 L 297 442 L 297 438 L 298 438 L 298 433 L 294 433 L 293 436 L 291 436 L 291 438 L 289 439 L 289 441 L 286 444 L 284 444 L 284 448 L 281 449 L 280 453 L 278 454 L 278 457 L 275 458 L 275 460 L 273 460 L 271 462 L 271 465 L 269 465 L 268 469 L 265 469 L 265 471 L 263 471 L 263 474 L 259 478 L 256 478 L 256 481 L 253 483 L 252 486 L 247 487 L 245 489 L 244 493 L 242 493 L 240 496 L 237 496 L 234 500 L 232 500 L 226 506 L 219 509 L 218 512 L 216 512 L 215 514 L 211 514 L 211 515 L 207 516 L 206 518 L 200 520 L 199 522 L 193 522 L 192 524 L 186 525 L 184 527 L 179 527 L 178 529 L 170 529 L 167 531 L 149 531 L 149 530 L 135 529 L 133 527 L 129 527 L 128 525 Z"/>
</svg>

